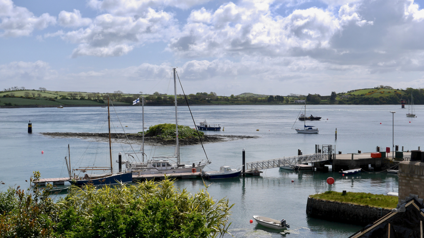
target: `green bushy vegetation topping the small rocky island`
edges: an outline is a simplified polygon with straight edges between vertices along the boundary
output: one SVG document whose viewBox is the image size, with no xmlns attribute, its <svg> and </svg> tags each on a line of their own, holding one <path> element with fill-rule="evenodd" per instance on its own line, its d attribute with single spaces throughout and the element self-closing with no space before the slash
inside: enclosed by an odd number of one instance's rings
<svg viewBox="0 0 424 238">
<path fill-rule="evenodd" d="M 142 133 L 142 132 L 139 132 Z M 204 133 L 199 131 L 201 137 L 204 136 Z M 158 124 L 149 127 L 149 130 L 145 131 L 145 136 L 157 136 L 163 138 L 164 140 L 175 139 L 175 124 L 165 123 Z M 189 139 L 189 138 L 198 138 L 196 129 L 190 128 L 189 126 L 178 126 L 178 138 L 180 139 Z"/>
</svg>

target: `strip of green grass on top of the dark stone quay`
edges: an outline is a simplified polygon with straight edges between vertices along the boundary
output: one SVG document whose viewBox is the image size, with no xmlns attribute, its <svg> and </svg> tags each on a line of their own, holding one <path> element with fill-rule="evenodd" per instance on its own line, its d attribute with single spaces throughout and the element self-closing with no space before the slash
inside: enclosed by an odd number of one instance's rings
<svg viewBox="0 0 424 238">
<path fill-rule="evenodd" d="M 393 209 L 398 203 L 397 196 L 388 196 L 383 194 L 367 194 L 347 192 L 346 195 L 335 191 L 326 191 L 323 194 L 310 195 L 311 198 L 323 199 L 334 202 L 345 202 L 356 205 L 364 205 L 376 208 Z"/>
</svg>

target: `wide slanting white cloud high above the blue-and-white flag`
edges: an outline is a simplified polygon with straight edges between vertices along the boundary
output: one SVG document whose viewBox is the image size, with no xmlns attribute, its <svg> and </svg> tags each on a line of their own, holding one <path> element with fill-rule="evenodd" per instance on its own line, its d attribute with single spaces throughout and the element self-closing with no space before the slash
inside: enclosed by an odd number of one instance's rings
<svg viewBox="0 0 424 238">
<path fill-rule="evenodd" d="M 142 43 L 166 41 L 177 30 L 175 22 L 173 14 L 152 8 L 141 16 L 101 14 L 87 28 L 63 33 L 61 38 L 78 44 L 72 53 L 74 58 L 120 56 Z"/>
</svg>

